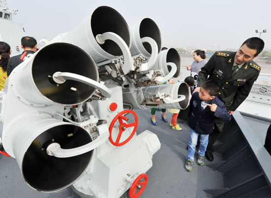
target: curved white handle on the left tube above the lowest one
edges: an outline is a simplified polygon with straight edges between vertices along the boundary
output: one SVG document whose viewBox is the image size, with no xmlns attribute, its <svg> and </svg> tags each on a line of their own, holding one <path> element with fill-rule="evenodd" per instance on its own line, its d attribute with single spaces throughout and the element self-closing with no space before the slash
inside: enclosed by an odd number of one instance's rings
<svg viewBox="0 0 271 198">
<path fill-rule="evenodd" d="M 79 74 L 57 71 L 53 75 L 53 80 L 58 84 L 65 83 L 66 80 L 75 80 L 100 90 L 102 95 L 106 98 L 110 98 L 112 95 L 112 91 L 101 83 Z"/>
</svg>

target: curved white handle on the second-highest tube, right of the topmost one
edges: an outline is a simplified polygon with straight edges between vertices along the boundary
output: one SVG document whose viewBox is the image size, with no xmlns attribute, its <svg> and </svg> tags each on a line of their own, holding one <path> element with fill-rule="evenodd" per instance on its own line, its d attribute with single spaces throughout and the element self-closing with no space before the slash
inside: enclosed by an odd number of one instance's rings
<svg viewBox="0 0 271 198">
<path fill-rule="evenodd" d="M 157 43 L 154 39 L 152 39 L 151 37 L 143 37 L 141 38 L 141 42 L 147 42 L 150 44 L 151 46 L 151 57 L 148 61 L 148 63 L 142 64 L 142 66 L 140 67 L 140 71 L 146 71 L 151 69 L 158 57 L 158 46 Z"/>
</svg>

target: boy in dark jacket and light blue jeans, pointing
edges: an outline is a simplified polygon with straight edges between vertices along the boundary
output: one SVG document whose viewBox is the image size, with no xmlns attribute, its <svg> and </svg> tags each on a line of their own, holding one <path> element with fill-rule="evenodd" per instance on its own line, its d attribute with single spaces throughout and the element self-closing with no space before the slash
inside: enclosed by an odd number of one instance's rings
<svg viewBox="0 0 271 198">
<path fill-rule="evenodd" d="M 192 95 L 188 107 L 190 139 L 186 157 L 187 161 L 184 165 L 186 171 L 190 172 L 192 170 L 198 136 L 200 135 L 200 149 L 197 164 L 204 165 L 208 137 L 213 132 L 215 118 L 219 118 L 224 122 L 229 122 L 232 118 L 225 104 L 215 97 L 219 90 L 217 82 L 208 80 L 201 85 L 199 92 Z"/>
</svg>

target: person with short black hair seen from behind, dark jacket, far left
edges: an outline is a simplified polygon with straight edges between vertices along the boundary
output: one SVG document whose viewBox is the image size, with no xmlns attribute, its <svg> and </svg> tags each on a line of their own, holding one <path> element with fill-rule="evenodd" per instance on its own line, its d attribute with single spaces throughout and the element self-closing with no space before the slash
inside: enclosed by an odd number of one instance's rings
<svg viewBox="0 0 271 198">
<path fill-rule="evenodd" d="M 7 76 L 10 75 L 12 70 L 23 63 L 25 57 L 29 57 L 30 54 L 34 54 L 37 50 L 36 39 L 30 36 L 24 36 L 21 39 L 21 47 L 24 49 L 23 53 L 14 57 L 11 57 L 7 63 Z"/>
</svg>

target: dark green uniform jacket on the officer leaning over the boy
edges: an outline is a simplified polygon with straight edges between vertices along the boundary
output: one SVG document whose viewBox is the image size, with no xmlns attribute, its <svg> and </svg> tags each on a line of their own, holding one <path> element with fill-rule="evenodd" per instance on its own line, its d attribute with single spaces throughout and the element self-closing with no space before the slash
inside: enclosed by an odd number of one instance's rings
<svg viewBox="0 0 271 198">
<path fill-rule="evenodd" d="M 261 70 L 261 67 L 251 60 L 231 77 L 235 55 L 236 52 L 216 52 L 203 66 L 198 78 L 198 87 L 207 79 L 216 81 L 220 86 L 217 97 L 225 103 L 227 110 L 231 111 L 235 111 L 246 99 Z"/>
</svg>

